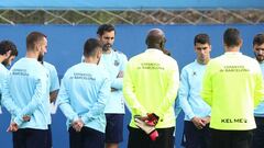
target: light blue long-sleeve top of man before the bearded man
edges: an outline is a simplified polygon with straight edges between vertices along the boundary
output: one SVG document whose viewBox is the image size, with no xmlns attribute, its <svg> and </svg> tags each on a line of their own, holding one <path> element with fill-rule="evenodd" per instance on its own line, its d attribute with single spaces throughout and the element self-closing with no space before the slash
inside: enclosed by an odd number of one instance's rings
<svg viewBox="0 0 264 148">
<path fill-rule="evenodd" d="M 61 84 L 58 105 L 67 127 L 80 118 L 85 126 L 105 133 L 105 107 L 110 96 L 108 73 L 96 64 L 80 62 L 69 68 Z"/>
</svg>

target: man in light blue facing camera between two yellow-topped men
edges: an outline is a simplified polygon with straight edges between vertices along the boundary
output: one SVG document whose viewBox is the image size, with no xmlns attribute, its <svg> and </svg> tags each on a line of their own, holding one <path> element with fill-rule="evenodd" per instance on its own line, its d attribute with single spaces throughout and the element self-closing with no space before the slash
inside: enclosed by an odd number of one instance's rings
<svg viewBox="0 0 264 148">
<path fill-rule="evenodd" d="M 179 104 L 185 113 L 183 146 L 209 148 L 210 106 L 201 99 L 200 90 L 206 65 L 210 60 L 211 44 L 207 34 L 195 36 L 194 62 L 185 66 L 180 75 Z"/>
</svg>

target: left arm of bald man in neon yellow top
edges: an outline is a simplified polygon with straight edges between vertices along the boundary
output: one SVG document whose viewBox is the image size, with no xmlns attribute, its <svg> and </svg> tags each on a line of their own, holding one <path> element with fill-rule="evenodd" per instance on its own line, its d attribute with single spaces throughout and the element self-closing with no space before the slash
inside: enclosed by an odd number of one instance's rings
<svg viewBox="0 0 264 148">
<path fill-rule="evenodd" d="M 147 112 L 136 99 L 135 88 L 132 82 L 132 70 L 130 70 L 130 64 L 128 64 L 124 70 L 123 79 L 123 95 L 125 103 L 134 115 L 145 116 Z"/>
</svg>

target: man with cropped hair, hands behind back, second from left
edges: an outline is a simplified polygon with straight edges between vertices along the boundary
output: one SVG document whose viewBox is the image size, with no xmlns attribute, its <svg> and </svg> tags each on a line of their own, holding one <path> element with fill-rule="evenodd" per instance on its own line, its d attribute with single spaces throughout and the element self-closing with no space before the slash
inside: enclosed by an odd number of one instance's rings
<svg viewBox="0 0 264 148">
<path fill-rule="evenodd" d="M 14 148 L 46 148 L 48 75 L 37 61 L 47 48 L 46 36 L 32 32 L 26 36 L 26 56 L 10 69 L 3 84 L 3 105 L 11 113 L 8 128 L 13 132 Z"/>
</svg>

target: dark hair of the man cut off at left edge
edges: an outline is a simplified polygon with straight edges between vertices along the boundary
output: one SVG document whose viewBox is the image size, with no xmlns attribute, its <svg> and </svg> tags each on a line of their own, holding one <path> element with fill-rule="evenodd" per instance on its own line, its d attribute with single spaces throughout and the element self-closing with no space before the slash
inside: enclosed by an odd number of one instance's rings
<svg viewBox="0 0 264 148">
<path fill-rule="evenodd" d="M 11 56 L 18 56 L 19 52 L 16 49 L 16 46 L 11 41 L 2 41 L 0 42 L 0 55 L 7 54 L 9 50 L 11 50 Z"/>
</svg>

